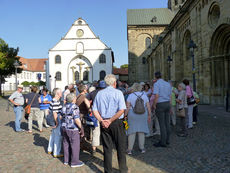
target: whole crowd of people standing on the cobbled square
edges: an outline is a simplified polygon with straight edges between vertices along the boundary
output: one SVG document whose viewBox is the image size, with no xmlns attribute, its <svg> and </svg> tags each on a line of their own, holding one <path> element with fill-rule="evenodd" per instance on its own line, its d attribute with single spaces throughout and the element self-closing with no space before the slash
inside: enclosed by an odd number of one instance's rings
<svg viewBox="0 0 230 173">
<path fill-rule="evenodd" d="M 22 89 L 23 86 L 18 85 L 17 91 L 9 97 L 14 104 L 17 132 L 23 131 L 20 128 L 24 105 Z M 178 136 L 187 136 L 187 129 L 192 128 L 197 121 L 197 108 L 194 106 L 196 98 L 198 96 L 192 91 L 188 80 L 185 79 L 176 89 L 172 83 L 161 78 L 160 72 L 155 73 L 151 84 L 134 83 L 130 88 L 109 74 L 103 81 L 90 87 L 76 83 L 76 86 L 68 85 L 63 92 L 55 88 L 53 98 L 47 89 L 44 88 L 39 95 L 37 87 L 31 87 L 31 93 L 25 95 L 25 102 L 31 105 L 28 132 L 32 132 L 33 117 L 37 118 L 40 132 L 43 124 L 48 128 L 46 117 L 51 114 L 55 126 L 52 126 L 48 154 L 64 156 L 65 165 L 83 166 L 79 154 L 84 145 L 82 139 L 87 138 L 92 145 L 92 154 L 96 153 L 96 148 L 102 143 L 105 172 L 112 172 L 114 147 L 120 172 L 127 172 L 126 153 L 132 154 L 136 134 L 141 153 L 146 152 L 145 138 L 156 134 L 161 139 L 154 146 L 167 147 L 170 144 L 170 122 L 175 126 L 178 115 L 181 127 Z M 125 129 L 124 121 L 128 122 L 128 129 Z"/>
</svg>

